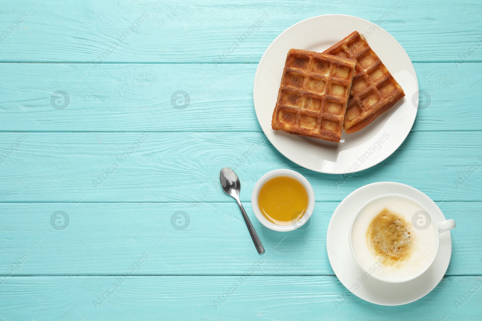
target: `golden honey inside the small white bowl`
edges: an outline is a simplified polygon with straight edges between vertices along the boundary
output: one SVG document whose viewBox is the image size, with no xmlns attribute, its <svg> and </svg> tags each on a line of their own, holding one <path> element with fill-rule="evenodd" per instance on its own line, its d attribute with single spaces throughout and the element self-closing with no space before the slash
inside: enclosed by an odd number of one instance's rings
<svg viewBox="0 0 482 321">
<path fill-rule="evenodd" d="M 290 225 L 300 219 L 308 208 L 308 193 L 298 180 L 278 176 L 266 181 L 258 194 L 258 206 L 269 221 Z"/>
</svg>

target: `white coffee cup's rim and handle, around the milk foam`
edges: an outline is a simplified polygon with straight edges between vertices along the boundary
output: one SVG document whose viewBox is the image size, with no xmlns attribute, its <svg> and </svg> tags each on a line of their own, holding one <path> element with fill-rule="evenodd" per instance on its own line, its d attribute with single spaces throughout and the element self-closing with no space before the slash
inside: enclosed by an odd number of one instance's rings
<svg viewBox="0 0 482 321">
<path fill-rule="evenodd" d="M 396 197 L 397 199 L 400 199 L 402 201 L 402 203 L 403 203 L 404 199 L 408 200 L 409 202 L 413 202 L 414 205 L 416 205 L 417 207 L 420 208 L 419 211 L 414 212 L 414 214 L 412 216 L 412 219 L 411 219 L 412 226 L 414 227 L 414 229 L 419 230 L 419 231 L 424 231 L 425 229 L 430 228 L 430 226 L 432 226 L 431 223 L 433 222 L 434 223 L 433 227 L 436 230 L 435 233 L 434 233 L 434 237 L 436 238 L 436 240 L 435 240 L 436 245 L 435 245 L 433 257 L 431 258 L 429 264 L 427 264 L 423 269 L 419 270 L 416 274 L 411 275 L 410 277 L 407 277 L 407 278 L 390 279 L 388 277 L 384 278 L 384 277 L 381 277 L 381 276 L 377 275 L 376 273 L 373 273 L 372 271 L 374 269 L 371 269 L 371 267 L 367 268 L 367 266 L 366 266 L 368 261 L 365 260 L 365 265 L 364 265 L 361 262 L 360 258 L 358 257 L 358 255 L 356 253 L 356 250 L 354 249 L 355 246 L 354 246 L 354 240 L 353 240 L 352 236 L 353 236 L 353 227 L 354 227 L 355 222 L 357 221 L 357 218 L 360 216 L 361 213 L 363 213 L 363 210 L 365 210 L 368 206 L 372 206 L 372 208 L 374 208 L 374 205 L 376 205 L 375 202 L 383 200 L 384 198 L 389 199 L 390 197 L 392 197 L 392 199 L 394 199 L 394 197 Z M 367 215 L 367 217 L 368 217 L 368 215 Z M 374 217 L 375 217 L 375 215 L 373 215 L 373 217 L 371 219 L 373 219 Z M 365 219 L 365 223 L 366 223 L 366 221 L 367 220 Z M 365 223 L 363 223 L 363 224 L 365 224 Z M 375 278 L 377 280 L 380 280 L 380 281 L 383 281 L 383 282 L 401 283 L 401 282 L 407 282 L 407 281 L 413 280 L 413 279 L 419 277 L 425 271 L 428 270 L 428 268 L 433 264 L 433 261 L 435 260 L 435 257 L 437 256 L 437 253 L 438 253 L 438 250 L 439 250 L 440 238 L 438 237 L 438 234 L 446 232 L 446 231 L 450 231 L 454 228 L 455 228 L 455 221 L 453 219 L 447 219 L 447 220 L 444 220 L 444 221 L 437 222 L 433 218 L 433 216 L 428 212 L 428 210 L 426 209 L 425 206 L 423 206 L 422 204 L 420 204 L 418 201 L 416 201 L 415 199 L 413 199 L 411 197 L 401 195 L 401 194 L 384 194 L 384 195 L 379 195 L 375 198 L 372 198 L 371 200 L 366 202 L 364 205 L 362 205 L 362 207 L 358 210 L 355 217 L 351 221 L 348 237 L 349 237 L 349 244 L 350 244 L 350 249 L 351 249 L 351 252 L 353 254 L 353 257 L 355 257 L 355 260 L 357 261 L 360 268 L 363 271 L 365 271 L 365 274 L 369 274 L 370 277 L 373 277 L 373 278 Z M 366 230 L 365 230 L 365 233 L 366 233 Z M 360 237 L 358 237 L 358 239 L 360 239 Z M 421 246 L 421 245 L 418 245 L 418 246 Z M 360 252 L 360 246 L 357 246 L 357 247 L 359 248 L 359 252 Z M 394 272 L 394 273 L 396 273 L 396 272 Z"/>
</svg>

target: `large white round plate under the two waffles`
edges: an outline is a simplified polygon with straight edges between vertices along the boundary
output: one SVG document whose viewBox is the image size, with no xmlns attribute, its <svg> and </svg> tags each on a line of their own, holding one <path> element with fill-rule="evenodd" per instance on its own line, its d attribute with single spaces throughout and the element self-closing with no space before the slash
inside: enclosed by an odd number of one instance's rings
<svg viewBox="0 0 482 321">
<path fill-rule="evenodd" d="M 349 135 L 343 132 L 339 143 L 273 130 L 271 117 L 288 51 L 295 48 L 321 52 L 355 30 L 365 36 L 405 91 L 405 97 L 365 128 Z M 410 58 L 387 31 L 358 17 L 327 14 L 303 20 L 274 39 L 256 70 L 253 99 L 261 128 L 281 154 L 317 172 L 344 174 L 375 166 L 402 144 L 417 114 L 418 83 Z"/>
</svg>

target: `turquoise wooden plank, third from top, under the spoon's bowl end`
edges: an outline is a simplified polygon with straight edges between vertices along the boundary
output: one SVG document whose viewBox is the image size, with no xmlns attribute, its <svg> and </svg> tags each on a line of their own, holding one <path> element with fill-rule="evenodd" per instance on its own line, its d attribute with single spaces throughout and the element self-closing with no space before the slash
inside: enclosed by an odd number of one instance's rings
<svg viewBox="0 0 482 321">
<path fill-rule="evenodd" d="M 480 131 L 412 132 L 381 164 L 329 175 L 296 166 L 259 132 L 0 133 L 0 202 L 231 202 L 219 185 L 226 166 L 241 179 L 243 201 L 276 168 L 305 175 L 319 201 L 381 180 L 436 201 L 481 201 L 481 144 Z"/>
</svg>

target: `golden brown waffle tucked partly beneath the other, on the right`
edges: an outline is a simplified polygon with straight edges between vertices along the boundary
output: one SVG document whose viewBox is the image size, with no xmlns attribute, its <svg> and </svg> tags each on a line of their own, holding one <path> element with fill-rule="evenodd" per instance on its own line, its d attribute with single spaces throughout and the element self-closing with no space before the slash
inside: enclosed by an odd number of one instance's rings
<svg viewBox="0 0 482 321">
<path fill-rule="evenodd" d="M 358 31 L 323 53 L 357 61 L 343 123 L 347 134 L 367 126 L 405 96 L 402 87 Z"/>
</svg>

